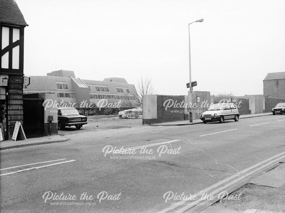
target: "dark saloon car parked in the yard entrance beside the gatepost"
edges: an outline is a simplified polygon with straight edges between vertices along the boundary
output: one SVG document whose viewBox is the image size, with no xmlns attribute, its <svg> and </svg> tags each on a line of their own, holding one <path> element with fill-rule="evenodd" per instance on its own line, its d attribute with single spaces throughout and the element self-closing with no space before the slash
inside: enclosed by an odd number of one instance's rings
<svg viewBox="0 0 285 213">
<path fill-rule="evenodd" d="M 75 126 L 80 129 L 87 124 L 87 117 L 80 115 L 76 108 L 58 108 L 58 129 L 64 130 L 66 126 Z"/>
</svg>

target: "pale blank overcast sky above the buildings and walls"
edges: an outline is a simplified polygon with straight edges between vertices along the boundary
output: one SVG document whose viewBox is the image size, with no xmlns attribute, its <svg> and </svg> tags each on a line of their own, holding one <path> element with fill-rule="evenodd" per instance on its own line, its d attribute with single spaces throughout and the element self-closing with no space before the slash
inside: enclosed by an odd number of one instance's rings
<svg viewBox="0 0 285 213">
<path fill-rule="evenodd" d="M 73 70 L 81 79 L 152 78 L 161 95 L 263 94 L 285 71 L 285 1 L 16 0 L 26 22 L 25 75 Z"/>
</svg>

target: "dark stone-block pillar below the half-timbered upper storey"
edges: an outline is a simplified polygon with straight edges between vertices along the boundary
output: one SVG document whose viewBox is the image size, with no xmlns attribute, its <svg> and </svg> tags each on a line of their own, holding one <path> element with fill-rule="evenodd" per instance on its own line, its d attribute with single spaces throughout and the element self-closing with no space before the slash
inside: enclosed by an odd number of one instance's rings
<svg viewBox="0 0 285 213">
<path fill-rule="evenodd" d="M 8 83 L 8 134 L 12 139 L 17 121 L 23 125 L 23 76 L 9 75 Z"/>
</svg>

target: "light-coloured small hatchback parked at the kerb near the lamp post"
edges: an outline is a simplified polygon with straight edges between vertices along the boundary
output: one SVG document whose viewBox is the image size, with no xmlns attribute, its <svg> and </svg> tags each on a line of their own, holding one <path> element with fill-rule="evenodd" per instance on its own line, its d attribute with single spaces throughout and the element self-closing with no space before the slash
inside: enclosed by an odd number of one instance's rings
<svg viewBox="0 0 285 213">
<path fill-rule="evenodd" d="M 204 124 L 213 121 L 223 123 L 227 119 L 239 121 L 239 110 L 234 103 L 213 104 L 207 111 L 201 114 L 200 119 Z"/>
</svg>

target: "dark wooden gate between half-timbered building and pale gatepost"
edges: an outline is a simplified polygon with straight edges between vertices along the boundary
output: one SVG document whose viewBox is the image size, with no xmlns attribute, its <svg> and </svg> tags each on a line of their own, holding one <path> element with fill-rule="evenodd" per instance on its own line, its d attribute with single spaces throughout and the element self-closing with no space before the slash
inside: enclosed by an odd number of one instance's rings
<svg viewBox="0 0 285 213">
<path fill-rule="evenodd" d="M 23 95 L 23 128 L 27 138 L 42 137 L 44 132 L 44 99 L 38 93 Z"/>
</svg>

